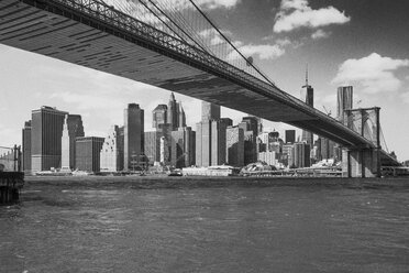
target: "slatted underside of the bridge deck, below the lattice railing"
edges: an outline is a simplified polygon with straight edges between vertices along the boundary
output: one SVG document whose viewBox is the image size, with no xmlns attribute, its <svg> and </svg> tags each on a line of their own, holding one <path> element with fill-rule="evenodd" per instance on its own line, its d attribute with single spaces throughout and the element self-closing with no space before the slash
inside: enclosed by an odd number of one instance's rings
<svg viewBox="0 0 409 273">
<path fill-rule="evenodd" d="M 113 24 L 47 1 L 1 0 L 0 43 L 286 122 L 344 146 L 367 144 L 331 118 L 313 114 L 313 109 L 297 109 L 243 79 L 229 78 Z"/>
</svg>

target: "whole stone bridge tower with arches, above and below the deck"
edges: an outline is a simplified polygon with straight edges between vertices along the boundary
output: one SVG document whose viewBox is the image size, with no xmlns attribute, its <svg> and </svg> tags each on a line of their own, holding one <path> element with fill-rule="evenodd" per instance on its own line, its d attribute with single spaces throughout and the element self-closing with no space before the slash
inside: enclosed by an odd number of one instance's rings
<svg viewBox="0 0 409 273">
<path fill-rule="evenodd" d="M 342 171 L 346 177 L 380 177 L 379 107 L 345 109 L 344 124 L 374 143 L 374 146 L 343 149 Z"/>
</svg>

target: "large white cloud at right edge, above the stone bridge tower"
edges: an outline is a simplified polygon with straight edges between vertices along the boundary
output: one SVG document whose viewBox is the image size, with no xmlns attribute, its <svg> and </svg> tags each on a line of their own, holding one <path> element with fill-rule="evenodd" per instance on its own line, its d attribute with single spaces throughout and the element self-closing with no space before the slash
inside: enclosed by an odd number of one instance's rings
<svg viewBox="0 0 409 273">
<path fill-rule="evenodd" d="M 401 80 L 394 74 L 401 67 L 409 67 L 409 59 L 394 59 L 373 53 L 360 59 L 351 58 L 340 65 L 333 84 L 357 84 L 364 92 L 396 91 Z"/>
</svg>

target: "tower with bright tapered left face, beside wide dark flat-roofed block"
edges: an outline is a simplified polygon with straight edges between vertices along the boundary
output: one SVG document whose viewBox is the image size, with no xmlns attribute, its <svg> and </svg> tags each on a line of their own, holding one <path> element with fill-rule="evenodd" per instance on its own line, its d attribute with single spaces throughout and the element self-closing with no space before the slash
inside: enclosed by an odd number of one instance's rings
<svg viewBox="0 0 409 273">
<path fill-rule="evenodd" d="M 76 138 L 84 136 L 84 125 L 80 114 L 66 114 L 62 138 L 62 167 L 76 168 Z"/>
</svg>

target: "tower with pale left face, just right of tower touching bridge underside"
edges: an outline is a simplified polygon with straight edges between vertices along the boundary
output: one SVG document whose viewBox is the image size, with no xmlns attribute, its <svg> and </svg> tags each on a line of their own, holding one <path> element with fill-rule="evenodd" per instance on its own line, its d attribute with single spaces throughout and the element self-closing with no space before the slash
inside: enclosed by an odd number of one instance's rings
<svg viewBox="0 0 409 273">
<path fill-rule="evenodd" d="M 222 165 L 226 162 L 225 157 L 225 131 L 233 121 L 229 118 L 213 120 L 211 122 L 211 165 Z"/>
</svg>

